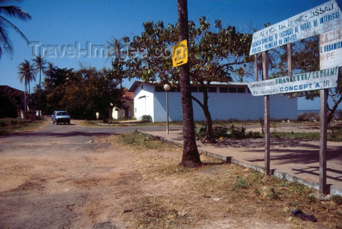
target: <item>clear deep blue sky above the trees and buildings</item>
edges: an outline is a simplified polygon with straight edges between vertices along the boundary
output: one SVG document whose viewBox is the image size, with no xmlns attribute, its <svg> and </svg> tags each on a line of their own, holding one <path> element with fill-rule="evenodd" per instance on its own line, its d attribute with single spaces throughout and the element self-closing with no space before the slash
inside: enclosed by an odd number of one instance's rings
<svg viewBox="0 0 342 229">
<path fill-rule="evenodd" d="M 327 0 L 188 0 L 188 14 L 189 20 L 195 23 L 199 17 L 205 16 L 209 22 L 220 19 L 224 26 L 232 25 L 241 32 L 249 32 L 247 26 L 259 30 L 267 22 L 278 23 L 325 2 Z M 341 5 L 342 0 L 337 2 Z M 32 20 L 10 21 L 28 40 L 42 48 L 53 45 L 62 52 L 66 46 L 76 49 L 86 49 L 89 44 L 107 46 L 112 36 L 132 38 L 141 34 L 145 21 L 177 22 L 176 0 L 30 0 L 17 5 L 29 13 Z M 34 58 L 35 46 L 27 45 L 13 31 L 9 36 L 15 53 L 12 60 L 7 55 L 0 59 L 0 85 L 24 90 L 24 85 L 17 78 L 18 66 L 24 59 Z M 98 69 L 110 67 L 110 61 L 106 62 L 104 57 L 83 54 L 68 57 L 61 54 L 50 55 L 46 60 L 60 68 L 78 69 L 80 64 Z M 129 88 L 132 83 L 125 81 L 123 85 Z M 319 109 L 319 100 L 299 99 L 298 109 Z"/>
</svg>

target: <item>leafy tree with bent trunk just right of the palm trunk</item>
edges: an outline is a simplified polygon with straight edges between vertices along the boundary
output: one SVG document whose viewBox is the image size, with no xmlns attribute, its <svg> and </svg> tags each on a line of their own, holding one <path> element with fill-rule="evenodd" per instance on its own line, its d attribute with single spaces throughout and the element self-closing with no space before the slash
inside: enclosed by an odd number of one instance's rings
<svg viewBox="0 0 342 229">
<path fill-rule="evenodd" d="M 222 22 L 216 20 L 214 29 L 205 17 L 198 20 L 199 26 L 195 28 L 193 22 L 191 27 L 191 45 L 189 53 L 194 54 L 190 58 L 192 66 L 193 83 L 200 85 L 203 91 L 203 103 L 192 97 L 203 109 L 207 130 L 205 141 L 214 142 L 213 124 L 208 104 L 208 89 L 212 82 L 232 82 L 234 76 L 242 81 L 242 77 L 248 75 L 247 63 L 252 62 L 249 57 L 250 34 L 242 34 L 236 31 L 234 26 L 222 27 Z"/>
</svg>

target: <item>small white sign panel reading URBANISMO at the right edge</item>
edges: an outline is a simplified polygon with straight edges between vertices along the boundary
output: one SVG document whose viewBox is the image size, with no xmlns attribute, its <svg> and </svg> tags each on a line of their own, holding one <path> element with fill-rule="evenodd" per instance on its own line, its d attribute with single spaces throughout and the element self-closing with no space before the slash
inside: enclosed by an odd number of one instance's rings
<svg viewBox="0 0 342 229">
<path fill-rule="evenodd" d="M 320 34 L 320 69 L 341 66 L 342 27 Z"/>
</svg>

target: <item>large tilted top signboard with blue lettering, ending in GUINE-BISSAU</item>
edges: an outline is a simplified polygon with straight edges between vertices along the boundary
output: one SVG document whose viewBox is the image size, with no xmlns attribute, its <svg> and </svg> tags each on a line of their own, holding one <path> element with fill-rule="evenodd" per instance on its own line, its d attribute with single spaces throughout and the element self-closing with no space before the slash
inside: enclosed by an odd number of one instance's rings
<svg viewBox="0 0 342 229">
<path fill-rule="evenodd" d="M 341 27 L 341 24 L 340 7 L 335 0 L 328 1 L 316 8 L 255 32 L 249 55 L 336 29 Z"/>
</svg>

